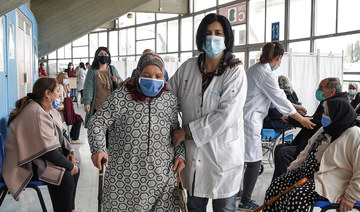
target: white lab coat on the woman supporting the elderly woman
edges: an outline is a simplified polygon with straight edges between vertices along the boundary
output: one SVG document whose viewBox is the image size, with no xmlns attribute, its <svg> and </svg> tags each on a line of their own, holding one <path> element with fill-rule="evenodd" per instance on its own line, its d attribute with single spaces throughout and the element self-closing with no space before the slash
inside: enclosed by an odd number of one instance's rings
<svg viewBox="0 0 360 212">
<path fill-rule="evenodd" d="M 197 58 L 182 64 L 169 83 L 181 105 L 183 125 L 189 124 L 193 136 L 184 141 L 184 186 L 196 197 L 228 198 L 239 191 L 244 166 L 245 71 L 238 65 L 214 76 L 202 107 L 201 84 Z"/>
</svg>

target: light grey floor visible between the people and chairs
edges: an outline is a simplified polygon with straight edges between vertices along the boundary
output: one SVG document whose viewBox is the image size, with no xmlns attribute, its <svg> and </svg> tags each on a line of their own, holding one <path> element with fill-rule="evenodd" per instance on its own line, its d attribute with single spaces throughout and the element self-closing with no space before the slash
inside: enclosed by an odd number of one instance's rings
<svg viewBox="0 0 360 212">
<path fill-rule="evenodd" d="M 83 107 L 77 108 L 77 113 L 85 117 Z M 90 150 L 87 144 L 87 131 L 81 128 L 80 139 L 84 141 L 83 144 L 74 144 L 73 147 L 77 150 L 76 155 L 80 156 L 81 174 L 76 193 L 76 210 L 81 212 L 96 212 L 97 211 L 97 195 L 98 195 L 98 170 L 93 167 L 90 160 Z M 265 170 L 259 176 L 255 190 L 253 192 L 253 199 L 256 203 L 261 204 L 264 199 L 264 193 L 268 187 L 273 173 L 273 168 L 265 164 Z M 41 188 L 43 196 L 46 201 L 48 211 L 53 211 L 49 193 L 47 188 Z M 39 201 L 36 193 L 32 190 L 26 189 L 22 192 L 20 201 L 16 202 L 10 195 L 7 195 L 3 205 L 0 208 L 1 212 L 27 212 L 27 211 L 41 211 Z M 208 204 L 208 210 L 212 211 L 211 202 Z"/>
</svg>

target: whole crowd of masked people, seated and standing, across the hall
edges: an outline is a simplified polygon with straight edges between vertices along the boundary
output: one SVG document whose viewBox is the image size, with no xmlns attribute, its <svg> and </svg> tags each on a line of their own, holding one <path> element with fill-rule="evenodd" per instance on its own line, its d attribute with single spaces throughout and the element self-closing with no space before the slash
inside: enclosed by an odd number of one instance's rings
<svg viewBox="0 0 360 212">
<path fill-rule="evenodd" d="M 211 13 L 197 29 L 200 54 L 170 79 L 163 59 L 150 49 L 124 82 L 106 47 L 96 50 L 91 66 L 74 69 L 70 62 L 57 79 L 47 77 L 41 63 L 33 92 L 10 114 L 3 164 L 10 193 L 18 199 L 29 179 L 40 179 L 48 184 L 55 212 L 75 209 L 79 167 L 71 141 L 78 140 L 83 120 L 73 109 L 59 108 L 68 105 L 68 78 L 76 77 L 91 160 L 102 169 L 106 159 L 104 211 L 180 211 L 179 175 L 190 212 L 206 211 L 209 199 L 215 212 L 254 210 L 260 204 L 252 192 L 263 156 L 261 130 L 288 126 L 302 129 L 291 143 L 276 147 L 265 202 L 309 180 L 263 211 L 307 211 L 317 200 L 351 210 L 360 200 L 358 85 L 342 92 L 338 78 L 323 79 L 315 92 L 319 106 L 307 116 L 291 80 L 276 74 L 285 51 L 280 43 L 265 43 L 260 62 L 246 72 L 233 46 L 231 24 Z M 70 137 L 63 124 L 69 113 Z"/>
</svg>

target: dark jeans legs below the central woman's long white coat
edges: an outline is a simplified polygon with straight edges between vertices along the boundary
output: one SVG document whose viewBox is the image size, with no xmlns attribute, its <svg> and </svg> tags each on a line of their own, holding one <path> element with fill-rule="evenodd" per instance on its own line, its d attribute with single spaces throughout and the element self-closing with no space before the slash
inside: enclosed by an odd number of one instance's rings
<svg viewBox="0 0 360 212">
<path fill-rule="evenodd" d="M 188 195 L 188 210 L 189 212 L 206 212 L 208 198 L 190 197 Z M 236 211 L 236 194 L 232 197 L 224 199 L 213 199 L 212 201 L 214 212 L 235 212 Z"/>
</svg>

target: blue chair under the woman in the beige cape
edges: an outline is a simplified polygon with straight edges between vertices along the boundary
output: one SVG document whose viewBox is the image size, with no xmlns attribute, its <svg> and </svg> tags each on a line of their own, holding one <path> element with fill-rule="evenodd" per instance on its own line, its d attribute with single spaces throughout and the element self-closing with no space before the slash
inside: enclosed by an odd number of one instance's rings
<svg viewBox="0 0 360 212">
<path fill-rule="evenodd" d="M 0 207 L 5 199 L 6 194 L 8 193 L 8 188 L 7 188 L 4 180 L 2 179 L 2 163 L 3 163 L 3 158 L 4 158 L 4 152 L 5 152 L 4 144 L 5 144 L 5 141 L 2 139 L 2 134 L 0 133 Z M 44 201 L 44 198 L 39 189 L 39 186 L 43 186 L 43 185 L 46 185 L 46 184 L 42 181 L 30 181 L 29 184 L 26 186 L 26 188 L 33 188 L 36 191 L 38 198 L 40 200 L 40 205 L 41 205 L 42 211 L 46 212 L 47 210 L 46 210 L 46 206 L 45 206 L 45 201 Z"/>
</svg>

